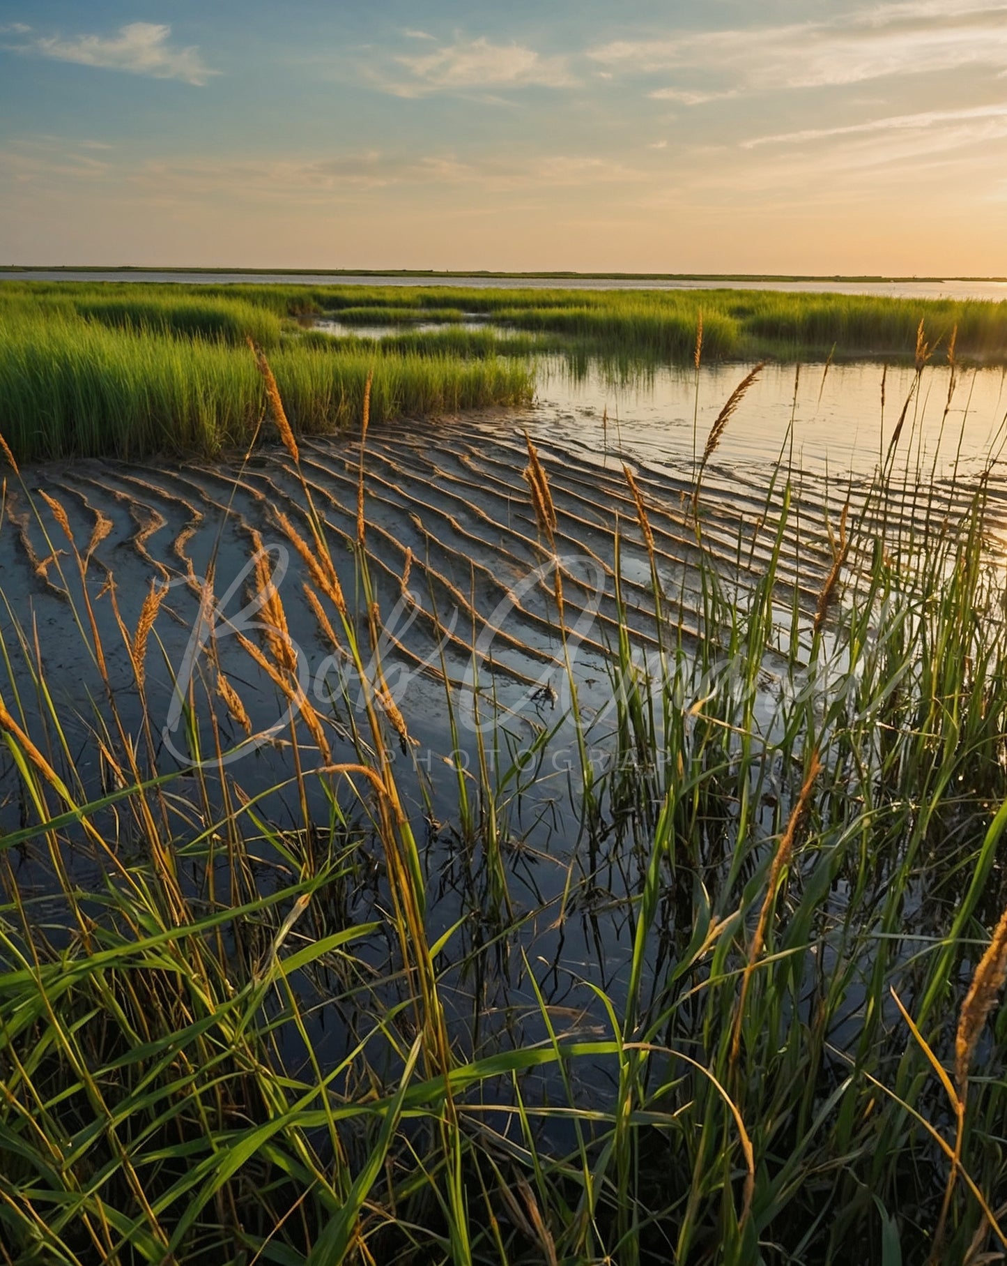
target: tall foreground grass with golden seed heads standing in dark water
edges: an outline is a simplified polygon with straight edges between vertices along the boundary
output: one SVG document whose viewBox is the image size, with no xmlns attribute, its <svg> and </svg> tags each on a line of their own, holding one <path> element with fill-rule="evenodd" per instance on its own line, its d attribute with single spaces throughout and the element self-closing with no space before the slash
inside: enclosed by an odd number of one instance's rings
<svg viewBox="0 0 1007 1266">
<path fill-rule="evenodd" d="M 703 351 L 708 328 L 705 309 Z M 277 419 L 296 417 L 283 354 L 276 390 L 269 365 L 243 354 Z M 363 442 L 359 527 L 342 538 L 280 429 L 302 490 L 300 527 L 280 527 L 350 671 L 324 713 L 302 696 L 259 556 L 259 642 L 243 643 L 242 671 L 224 679 L 209 639 L 191 681 L 173 684 L 181 761 L 154 739 L 147 695 L 157 591 L 135 622 L 115 608 L 137 727 L 92 619 L 127 595 L 114 576 L 101 591 L 89 581 L 91 541 L 77 544 L 56 499 L 29 503 L 100 698 L 82 746 L 8 594 L 0 742 L 19 822 L 0 841 L 5 1260 L 998 1260 L 1007 595 L 985 549 L 985 480 L 954 522 L 927 519 L 907 541 L 886 536 L 898 490 L 879 470 L 859 513 L 844 511 L 820 615 L 778 577 L 788 468 L 767 492 L 772 548 L 754 585 L 736 587 L 700 533 L 689 610 L 629 472 L 643 547 L 616 536 L 615 557 L 649 560 L 663 615 L 641 657 L 616 567 L 606 717 L 576 709 L 562 590 L 541 579 L 582 761 L 563 900 L 528 909 L 509 891 L 520 849 L 501 842 L 524 837 L 534 762 L 493 774 L 482 761 L 471 786 L 458 777 L 464 880 L 457 918 L 435 931 L 429 819 L 404 790 L 428 784 L 409 718 L 387 706 Z M 558 577 L 563 508 L 530 439 L 528 454 Z M 701 523 L 698 484 L 695 505 Z M 334 580 L 347 552 L 355 613 Z M 210 581 L 199 601 L 211 610 Z M 232 756 L 263 689 L 300 711 L 269 736 L 282 785 L 256 790 Z M 454 728 L 462 704 L 445 689 Z M 221 695 L 240 722 L 232 737 Z M 591 732 L 605 736 L 600 770 Z M 483 742 L 506 751 L 502 723 Z M 630 944 L 614 975 L 606 918 Z M 545 924 L 558 931 L 548 961 L 528 952 Z"/>
</svg>

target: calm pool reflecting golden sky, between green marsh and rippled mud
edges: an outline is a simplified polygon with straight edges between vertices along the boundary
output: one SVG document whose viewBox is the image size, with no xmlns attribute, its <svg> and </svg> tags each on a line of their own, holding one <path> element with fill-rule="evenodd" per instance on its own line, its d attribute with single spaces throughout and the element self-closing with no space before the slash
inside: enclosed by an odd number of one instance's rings
<svg viewBox="0 0 1007 1266">
<path fill-rule="evenodd" d="M 562 366 L 539 371 L 535 418 L 540 439 L 559 441 L 579 456 L 615 453 L 649 467 L 688 476 L 696 444 L 750 365 L 706 367 L 698 405 L 692 371 L 660 368 L 645 381 L 617 382 L 593 370 L 576 380 Z M 899 451 L 927 475 L 980 468 L 1002 442 L 1007 414 L 1007 371 L 959 372 L 949 403 L 950 370 L 927 367 L 913 389 L 911 366 L 767 365 L 731 418 L 714 465 L 740 481 L 764 479 L 777 460 L 793 460 L 805 475 L 869 477 L 906 409 Z M 882 380 L 884 405 L 882 406 Z M 607 413 L 607 418 L 606 418 Z M 936 466 L 934 463 L 936 462 Z"/>
</svg>

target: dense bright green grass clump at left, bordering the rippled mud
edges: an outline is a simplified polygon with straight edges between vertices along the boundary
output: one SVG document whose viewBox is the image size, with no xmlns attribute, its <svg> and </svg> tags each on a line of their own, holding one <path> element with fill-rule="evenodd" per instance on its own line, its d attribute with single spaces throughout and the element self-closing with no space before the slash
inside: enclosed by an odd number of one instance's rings
<svg viewBox="0 0 1007 1266">
<path fill-rule="evenodd" d="M 20 460 L 215 453 L 248 444 L 267 399 L 245 341 L 276 344 L 277 318 L 245 301 L 168 299 L 101 300 L 105 316 L 115 319 L 99 320 L 89 306 L 97 300 L 75 306 L 62 292 L 52 300 L 0 290 L 0 401 L 6 442 Z M 202 316 L 190 320 L 190 309 Z M 230 322 L 226 333 L 220 313 Z M 176 322 L 171 329 L 168 319 Z M 372 371 L 372 410 L 381 422 L 516 404 L 530 398 L 534 382 L 531 370 L 512 358 L 319 347 L 296 335 L 282 341 L 271 363 L 291 423 L 305 434 L 330 434 L 358 417 Z"/>
</svg>

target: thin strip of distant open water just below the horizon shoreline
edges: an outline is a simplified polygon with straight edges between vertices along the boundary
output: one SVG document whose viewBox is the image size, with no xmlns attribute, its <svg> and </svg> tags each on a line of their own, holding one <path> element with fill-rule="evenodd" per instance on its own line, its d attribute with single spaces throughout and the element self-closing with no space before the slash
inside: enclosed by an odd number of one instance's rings
<svg viewBox="0 0 1007 1266">
<path fill-rule="evenodd" d="M 782 290 L 836 295 L 887 295 L 894 299 L 1007 299 L 1007 281 L 749 281 L 745 279 L 683 279 L 640 281 L 606 277 L 478 277 L 430 273 L 423 277 L 349 276 L 316 272 L 73 272 L 70 270 L 0 272 L 5 281 L 171 281 L 178 285 L 287 286 L 474 286 L 488 290 Z"/>
</svg>

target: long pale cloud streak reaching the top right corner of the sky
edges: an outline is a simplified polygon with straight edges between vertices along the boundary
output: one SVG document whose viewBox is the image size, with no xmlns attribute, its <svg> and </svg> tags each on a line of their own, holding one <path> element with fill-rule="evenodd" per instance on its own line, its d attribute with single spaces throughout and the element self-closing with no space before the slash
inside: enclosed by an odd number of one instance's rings
<svg viewBox="0 0 1007 1266">
<path fill-rule="evenodd" d="M 624 72 L 702 70 L 750 89 L 817 87 L 967 66 L 1004 70 L 1006 19 L 1007 0 L 953 8 L 908 0 L 827 22 L 615 41 L 588 56 Z"/>
</svg>

